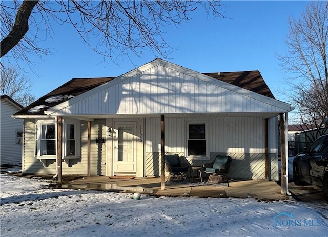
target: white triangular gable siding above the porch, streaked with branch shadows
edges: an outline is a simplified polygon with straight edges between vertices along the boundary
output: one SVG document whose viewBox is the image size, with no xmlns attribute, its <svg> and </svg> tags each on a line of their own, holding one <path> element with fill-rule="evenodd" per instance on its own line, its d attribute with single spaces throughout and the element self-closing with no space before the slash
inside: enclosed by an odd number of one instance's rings
<svg viewBox="0 0 328 237">
<path fill-rule="evenodd" d="M 201 74 L 200 74 L 201 75 Z M 113 80 L 107 88 L 81 98 L 58 114 L 151 114 L 281 111 L 248 95 L 163 66 Z M 84 105 L 84 106 L 82 106 Z"/>
</svg>

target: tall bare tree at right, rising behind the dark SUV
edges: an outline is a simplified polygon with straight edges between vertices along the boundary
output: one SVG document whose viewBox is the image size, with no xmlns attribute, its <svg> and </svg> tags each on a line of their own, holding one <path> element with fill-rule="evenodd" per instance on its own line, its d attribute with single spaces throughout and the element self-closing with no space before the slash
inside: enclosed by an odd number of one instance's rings
<svg viewBox="0 0 328 237">
<path fill-rule="evenodd" d="M 299 111 L 295 125 L 313 130 L 307 133 L 313 141 L 328 130 L 323 124 L 328 117 L 328 2 L 311 2 L 299 19 L 291 17 L 285 43 L 288 52 L 278 58 L 290 75 L 287 95 Z"/>
</svg>

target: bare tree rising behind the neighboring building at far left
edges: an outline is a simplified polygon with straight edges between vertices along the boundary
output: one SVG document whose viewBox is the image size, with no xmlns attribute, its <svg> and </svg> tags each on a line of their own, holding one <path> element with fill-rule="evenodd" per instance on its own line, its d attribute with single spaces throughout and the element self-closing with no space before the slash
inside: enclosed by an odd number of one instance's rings
<svg viewBox="0 0 328 237">
<path fill-rule="evenodd" d="M 8 66 L 1 67 L 0 92 L 2 95 L 8 95 L 17 103 L 27 106 L 35 100 L 31 92 L 32 83 L 20 70 Z"/>
</svg>

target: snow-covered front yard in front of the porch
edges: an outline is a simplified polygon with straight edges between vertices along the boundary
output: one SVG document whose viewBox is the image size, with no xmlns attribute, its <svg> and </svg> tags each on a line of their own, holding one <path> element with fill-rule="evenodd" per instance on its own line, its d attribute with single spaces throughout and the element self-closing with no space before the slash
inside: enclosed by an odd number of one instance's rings
<svg viewBox="0 0 328 237">
<path fill-rule="evenodd" d="M 328 205 L 49 189 L 1 174 L 1 236 L 328 236 Z"/>
</svg>

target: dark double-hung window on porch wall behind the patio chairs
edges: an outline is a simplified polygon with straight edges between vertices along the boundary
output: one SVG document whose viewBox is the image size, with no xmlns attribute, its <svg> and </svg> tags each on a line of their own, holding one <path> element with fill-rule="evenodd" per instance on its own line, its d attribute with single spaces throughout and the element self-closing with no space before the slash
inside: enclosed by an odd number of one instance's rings
<svg viewBox="0 0 328 237">
<path fill-rule="evenodd" d="M 204 123 L 188 124 L 188 156 L 206 157 L 205 128 Z"/>
</svg>

